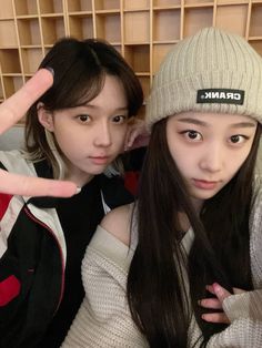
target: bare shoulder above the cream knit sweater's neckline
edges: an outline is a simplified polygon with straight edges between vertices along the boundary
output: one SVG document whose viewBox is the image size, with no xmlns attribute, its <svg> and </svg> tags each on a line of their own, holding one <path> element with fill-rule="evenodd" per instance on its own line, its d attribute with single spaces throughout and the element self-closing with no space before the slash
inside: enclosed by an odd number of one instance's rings
<svg viewBox="0 0 262 348">
<path fill-rule="evenodd" d="M 108 213 L 101 222 L 101 226 L 117 237 L 120 242 L 130 244 L 130 222 L 133 204 L 122 205 Z"/>
</svg>

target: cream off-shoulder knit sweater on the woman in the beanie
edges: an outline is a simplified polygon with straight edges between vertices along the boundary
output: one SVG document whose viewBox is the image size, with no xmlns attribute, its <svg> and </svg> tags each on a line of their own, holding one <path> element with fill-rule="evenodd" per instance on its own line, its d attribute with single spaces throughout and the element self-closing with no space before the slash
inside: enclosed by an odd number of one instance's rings
<svg viewBox="0 0 262 348">
<path fill-rule="evenodd" d="M 262 347 L 262 187 L 258 190 L 250 218 L 251 266 L 255 290 L 232 295 L 223 303 L 231 325 L 211 337 L 209 348 Z M 193 238 L 189 231 L 182 240 L 189 248 Z M 149 347 L 134 326 L 125 298 L 129 266 L 135 248 L 131 248 L 101 226 L 91 240 L 82 264 L 85 297 L 63 342 L 63 348 L 139 348 Z M 189 347 L 201 335 L 195 319 L 189 330 Z"/>
</svg>

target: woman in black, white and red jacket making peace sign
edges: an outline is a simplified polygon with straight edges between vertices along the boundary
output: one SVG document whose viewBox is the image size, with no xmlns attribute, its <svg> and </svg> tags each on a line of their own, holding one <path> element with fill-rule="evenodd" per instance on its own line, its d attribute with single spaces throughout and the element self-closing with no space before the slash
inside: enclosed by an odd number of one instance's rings
<svg viewBox="0 0 262 348">
<path fill-rule="evenodd" d="M 84 296 L 87 245 L 105 213 L 133 201 L 119 157 L 142 102 L 112 45 L 67 38 L 1 105 L 2 131 L 29 109 L 24 149 L 0 152 L 1 347 L 61 345 Z"/>
</svg>

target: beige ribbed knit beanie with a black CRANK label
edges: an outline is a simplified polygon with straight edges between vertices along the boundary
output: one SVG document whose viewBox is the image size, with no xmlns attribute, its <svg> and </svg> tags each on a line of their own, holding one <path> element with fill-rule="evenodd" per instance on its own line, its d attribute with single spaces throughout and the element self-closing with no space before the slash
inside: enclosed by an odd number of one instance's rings
<svg viewBox="0 0 262 348">
<path fill-rule="evenodd" d="M 238 113 L 262 123 L 262 58 L 218 28 L 177 43 L 154 76 L 145 122 L 151 127 L 184 111 Z"/>
</svg>

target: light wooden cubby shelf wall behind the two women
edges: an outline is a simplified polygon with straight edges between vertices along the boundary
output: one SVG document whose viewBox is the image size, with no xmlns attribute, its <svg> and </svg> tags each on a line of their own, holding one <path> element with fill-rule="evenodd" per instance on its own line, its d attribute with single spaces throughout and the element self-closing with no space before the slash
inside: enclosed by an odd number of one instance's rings
<svg viewBox="0 0 262 348">
<path fill-rule="evenodd" d="M 235 32 L 262 55 L 262 0 L 0 0 L 0 102 L 62 37 L 108 40 L 145 98 L 171 47 L 201 28 Z"/>
</svg>

